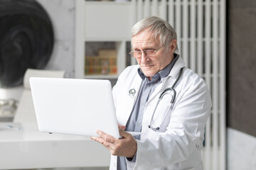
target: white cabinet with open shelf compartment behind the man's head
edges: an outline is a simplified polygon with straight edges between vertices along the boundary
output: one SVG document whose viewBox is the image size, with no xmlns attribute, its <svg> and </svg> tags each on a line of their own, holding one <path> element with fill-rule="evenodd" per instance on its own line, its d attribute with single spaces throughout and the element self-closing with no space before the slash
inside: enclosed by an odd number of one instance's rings
<svg viewBox="0 0 256 170">
<path fill-rule="evenodd" d="M 134 24 L 131 15 L 132 4 L 129 1 L 76 1 L 76 78 L 115 79 L 118 77 L 127 66 L 127 53 L 129 52 L 127 44 L 131 40 L 131 29 Z M 116 74 L 113 72 L 89 73 L 89 68 L 86 68 L 88 63 L 85 64 L 86 61 L 88 62 L 85 60 L 85 52 L 90 50 L 87 46 L 90 42 L 114 42 L 114 49 L 117 53 Z M 87 74 L 85 74 L 85 69 L 87 69 Z"/>
</svg>

